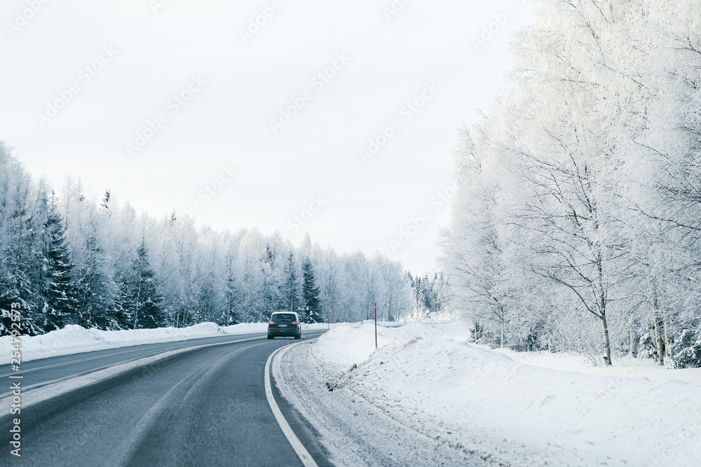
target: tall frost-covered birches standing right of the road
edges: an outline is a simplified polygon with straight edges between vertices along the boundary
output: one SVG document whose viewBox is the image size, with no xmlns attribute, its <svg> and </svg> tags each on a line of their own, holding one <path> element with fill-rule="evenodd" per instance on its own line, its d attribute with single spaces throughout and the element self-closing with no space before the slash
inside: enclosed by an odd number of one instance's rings
<svg viewBox="0 0 701 467">
<path fill-rule="evenodd" d="M 701 366 L 701 5 L 536 0 L 441 236 L 477 342 Z"/>
</svg>

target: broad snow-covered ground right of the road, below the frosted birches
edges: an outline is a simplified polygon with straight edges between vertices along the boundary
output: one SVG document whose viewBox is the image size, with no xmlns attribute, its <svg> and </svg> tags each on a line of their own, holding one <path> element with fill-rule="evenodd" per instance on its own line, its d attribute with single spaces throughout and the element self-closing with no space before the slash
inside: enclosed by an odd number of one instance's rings
<svg viewBox="0 0 701 467">
<path fill-rule="evenodd" d="M 402 449 L 387 438 L 359 456 L 362 442 L 348 439 L 366 428 L 348 405 L 364 403 L 372 426 L 409 428 L 404 449 L 416 447 L 414 465 L 436 461 L 418 447 L 421 439 L 475 465 L 701 465 L 701 369 L 630 360 L 594 368 L 581 356 L 491 350 L 469 344 L 468 335 L 461 323 L 409 323 L 379 328 L 375 350 L 372 324 L 334 329 L 283 354 L 289 365 L 304 362 L 295 367 L 304 374 L 273 370 L 341 463 L 380 465 L 392 457 L 379 451 Z M 299 394 L 317 400 L 301 402 L 287 382 L 306 384 Z M 339 416 L 320 415 L 315 404 Z"/>
</svg>

